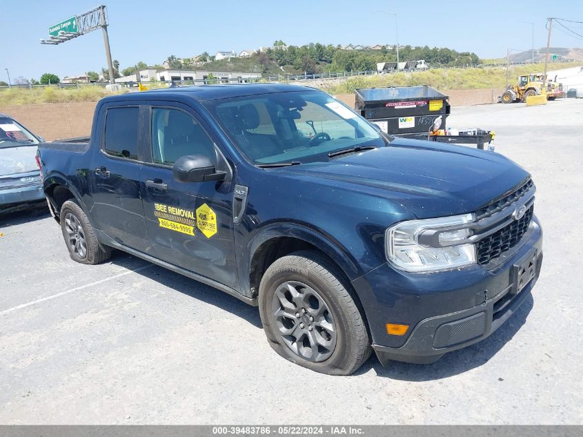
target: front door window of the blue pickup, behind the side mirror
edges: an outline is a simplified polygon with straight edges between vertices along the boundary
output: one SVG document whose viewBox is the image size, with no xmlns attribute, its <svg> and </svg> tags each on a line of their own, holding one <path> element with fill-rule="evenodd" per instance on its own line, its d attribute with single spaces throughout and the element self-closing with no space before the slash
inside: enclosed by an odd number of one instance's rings
<svg viewBox="0 0 583 437">
<path fill-rule="evenodd" d="M 152 159 L 172 165 L 179 157 L 204 155 L 216 162 L 215 146 L 195 117 L 178 109 L 152 109 Z"/>
</svg>

